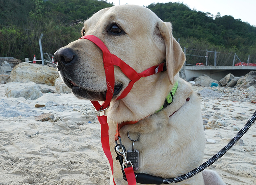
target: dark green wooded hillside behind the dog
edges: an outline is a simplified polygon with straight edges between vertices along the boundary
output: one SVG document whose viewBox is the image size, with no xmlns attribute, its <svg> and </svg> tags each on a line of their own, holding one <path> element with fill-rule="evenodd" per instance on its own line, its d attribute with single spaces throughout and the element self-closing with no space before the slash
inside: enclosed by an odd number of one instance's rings
<svg viewBox="0 0 256 185">
<path fill-rule="evenodd" d="M 53 54 L 58 48 L 78 39 L 82 22 L 105 7 L 97 0 L 0 0 L 0 57 L 30 60 L 40 58 L 41 33 L 43 52 Z M 173 36 L 180 38 L 187 53 L 204 56 L 206 49 L 218 52 L 217 65 L 232 65 L 234 53 L 242 62 L 250 55 L 256 63 L 256 28 L 230 15 L 211 15 L 191 10 L 182 3 L 157 3 L 148 6 L 162 20 L 171 22 Z M 212 61 L 210 54 L 209 59 Z M 205 58 L 187 56 L 187 63 Z M 211 62 L 209 64 L 212 65 Z"/>
</svg>

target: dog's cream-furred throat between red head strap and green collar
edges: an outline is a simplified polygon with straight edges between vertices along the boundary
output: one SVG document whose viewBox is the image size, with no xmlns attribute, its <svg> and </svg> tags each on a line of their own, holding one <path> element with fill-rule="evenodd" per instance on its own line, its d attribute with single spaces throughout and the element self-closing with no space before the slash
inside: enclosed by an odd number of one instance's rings
<svg viewBox="0 0 256 185">
<path fill-rule="evenodd" d="M 175 82 L 178 79 L 179 74 L 174 77 Z M 115 123 L 141 120 L 161 108 L 174 85 L 169 83 L 166 72 L 150 80 L 141 78 L 125 98 L 112 101 L 107 111 L 108 119 Z"/>
</svg>

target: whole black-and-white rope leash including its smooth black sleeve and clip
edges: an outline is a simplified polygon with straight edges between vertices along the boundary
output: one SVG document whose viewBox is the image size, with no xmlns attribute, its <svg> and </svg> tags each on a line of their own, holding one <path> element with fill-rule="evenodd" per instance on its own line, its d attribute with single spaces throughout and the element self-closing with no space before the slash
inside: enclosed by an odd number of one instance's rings
<svg viewBox="0 0 256 185">
<path fill-rule="evenodd" d="M 163 179 L 161 177 L 152 176 L 145 173 L 134 173 L 136 182 L 141 184 L 172 184 L 181 182 L 183 180 L 187 180 L 194 175 L 200 173 L 204 169 L 211 166 L 216 160 L 220 159 L 229 149 L 231 149 L 238 141 L 241 139 L 241 137 L 249 130 L 250 126 L 255 122 L 256 120 L 256 110 L 250 117 L 250 119 L 246 122 L 245 126 L 237 133 L 237 135 L 232 138 L 225 147 L 223 147 L 216 155 L 214 155 L 211 159 L 204 162 L 199 167 L 195 168 L 194 170 L 191 170 L 190 172 L 181 175 L 179 177 L 175 178 L 169 178 L 169 179 Z M 119 155 L 118 155 L 119 156 Z M 121 156 L 122 157 L 122 156 Z M 118 158 L 118 157 L 117 157 Z M 122 159 L 119 159 L 120 164 L 122 163 Z M 122 168 L 122 167 L 121 167 Z M 122 169 L 123 171 L 123 169 Z M 125 174 L 123 172 L 123 179 L 127 181 Z"/>
</svg>

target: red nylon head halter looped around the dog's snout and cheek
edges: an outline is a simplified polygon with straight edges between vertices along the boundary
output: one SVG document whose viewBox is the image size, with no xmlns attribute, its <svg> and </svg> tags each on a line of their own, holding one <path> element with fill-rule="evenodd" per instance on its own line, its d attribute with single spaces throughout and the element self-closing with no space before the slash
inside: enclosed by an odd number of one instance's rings
<svg viewBox="0 0 256 185">
<path fill-rule="evenodd" d="M 86 35 L 86 36 L 82 36 L 81 38 L 88 39 L 94 44 L 96 44 L 101 49 L 103 54 L 103 63 L 104 63 L 106 83 L 107 83 L 107 95 L 106 95 L 106 100 L 102 105 L 100 105 L 99 102 L 97 101 L 91 101 L 97 110 L 103 110 L 110 105 L 110 101 L 113 97 L 114 88 L 115 88 L 114 66 L 119 66 L 122 72 L 131 80 L 131 82 L 122 91 L 121 95 L 117 99 L 122 99 L 126 97 L 126 95 L 132 89 L 134 83 L 138 81 L 141 77 L 147 77 L 163 71 L 163 67 L 165 63 L 161 63 L 160 65 L 150 67 L 141 73 L 137 73 L 132 67 L 126 64 L 120 58 L 110 53 L 107 46 L 105 46 L 105 44 L 98 37 L 93 35 Z"/>
</svg>

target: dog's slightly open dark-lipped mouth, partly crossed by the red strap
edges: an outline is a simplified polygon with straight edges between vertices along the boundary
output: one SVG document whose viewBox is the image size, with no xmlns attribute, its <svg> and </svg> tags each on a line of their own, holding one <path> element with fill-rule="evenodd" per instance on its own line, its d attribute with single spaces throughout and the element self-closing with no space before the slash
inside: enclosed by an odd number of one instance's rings
<svg viewBox="0 0 256 185">
<path fill-rule="evenodd" d="M 105 101 L 106 100 L 106 95 L 107 95 L 107 90 L 97 92 L 97 91 L 91 91 L 88 89 L 85 89 L 79 85 L 77 85 L 74 81 L 65 80 L 65 84 L 72 89 L 72 92 L 74 95 L 78 98 L 85 98 L 88 100 L 92 101 Z M 115 98 L 122 90 L 123 85 L 119 82 L 115 83 L 115 88 L 114 88 L 114 93 L 113 93 L 113 98 Z"/>
</svg>

